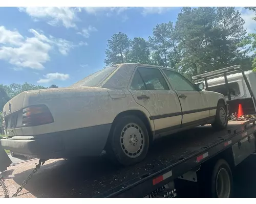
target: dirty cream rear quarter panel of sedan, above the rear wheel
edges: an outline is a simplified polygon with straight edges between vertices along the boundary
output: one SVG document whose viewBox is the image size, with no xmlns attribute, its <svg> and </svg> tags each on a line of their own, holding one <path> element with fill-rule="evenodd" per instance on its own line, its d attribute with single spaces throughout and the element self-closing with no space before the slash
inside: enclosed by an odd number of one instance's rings
<svg viewBox="0 0 256 204">
<path fill-rule="evenodd" d="M 55 94 L 53 98 L 48 94 L 40 94 L 37 99 L 28 97 L 25 104 L 45 104 L 52 113 L 54 122 L 18 128 L 15 131 L 22 135 L 39 135 L 109 124 L 114 121 L 119 113 L 127 110 L 140 110 L 147 118 L 150 117 L 150 114 L 143 107 L 138 106 L 129 91 L 123 90 L 125 97 L 122 95 L 114 98 L 110 97 L 108 91 L 115 95 L 115 90 L 95 88 L 94 92 L 81 90 L 66 90 L 58 94 L 53 92 Z M 117 90 L 116 96 L 119 94 L 120 90 Z M 154 129 L 152 121 L 150 123 L 152 129 Z"/>
</svg>

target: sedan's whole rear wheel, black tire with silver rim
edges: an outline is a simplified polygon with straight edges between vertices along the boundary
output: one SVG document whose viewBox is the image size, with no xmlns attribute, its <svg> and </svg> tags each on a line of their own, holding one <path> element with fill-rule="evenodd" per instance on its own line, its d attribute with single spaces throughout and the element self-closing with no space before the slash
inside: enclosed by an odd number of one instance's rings
<svg viewBox="0 0 256 204">
<path fill-rule="evenodd" d="M 142 161 L 147 154 L 150 139 L 142 120 L 133 115 L 123 116 L 114 124 L 110 133 L 106 154 L 123 166 Z"/>
</svg>

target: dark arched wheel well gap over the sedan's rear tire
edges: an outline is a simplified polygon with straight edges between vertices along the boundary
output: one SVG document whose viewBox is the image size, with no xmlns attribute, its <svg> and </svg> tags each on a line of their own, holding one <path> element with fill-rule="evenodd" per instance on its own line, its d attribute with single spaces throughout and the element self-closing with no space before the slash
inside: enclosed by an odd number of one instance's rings
<svg viewBox="0 0 256 204">
<path fill-rule="evenodd" d="M 129 111 L 124 111 L 124 112 L 121 112 L 119 113 L 112 125 L 111 125 L 111 129 L 110 129 L 110 134 L 112 134 L 113 132 L 113 127 L 115 126 L 115 124 L 117 123 L 118 119 L 123 117 L 123 116 L 127 116 L 127 115 L 134 115 L 134 116 L 137 116 L 138 118 L 140 118 L 142 120 L 142 122 L 145 124 L 146 126 L 146 129 L 147 129 L 147 132 L 148 132 L 148 136 L 150 137 L 150 144 L 152 143 L 153 141 L 153 134 L 152 134 L 152 129 L 151 129 L 151 125 L 150 125 L 150 122 L 148 121 L 147 117 L 145 116 L 145 114 L 141 111 L 138 111 L 138 110 L 129 110 Z"/>
</svg>

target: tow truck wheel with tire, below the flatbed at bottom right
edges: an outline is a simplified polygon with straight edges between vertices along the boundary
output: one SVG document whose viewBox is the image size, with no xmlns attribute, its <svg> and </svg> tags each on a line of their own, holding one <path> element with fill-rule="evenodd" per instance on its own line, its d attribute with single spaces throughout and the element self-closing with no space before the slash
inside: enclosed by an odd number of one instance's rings
<svg viewBox="0 0 256 204">
<path fill-rule="evenodd" d="M 219 160 L 211 175 L 211 195 L 212 197 L 231 197 L 233 191 L 233 177 L 228 163 Z"/>
</svg>

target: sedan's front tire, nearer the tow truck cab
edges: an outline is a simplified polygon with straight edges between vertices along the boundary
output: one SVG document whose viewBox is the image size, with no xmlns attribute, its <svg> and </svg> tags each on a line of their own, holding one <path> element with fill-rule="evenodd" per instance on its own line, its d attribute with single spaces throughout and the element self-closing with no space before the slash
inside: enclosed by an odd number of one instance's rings
<svg viewBox="0 0 256 204">
<path fill-rule="evenodd" d="M 224 103 L 218 103 L 215 121 L 211 126 L 216 130 L 223 130 L 227 127 L 227 108 Z"/>
</svg>

